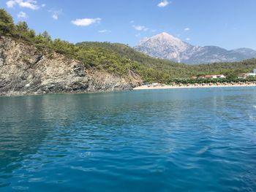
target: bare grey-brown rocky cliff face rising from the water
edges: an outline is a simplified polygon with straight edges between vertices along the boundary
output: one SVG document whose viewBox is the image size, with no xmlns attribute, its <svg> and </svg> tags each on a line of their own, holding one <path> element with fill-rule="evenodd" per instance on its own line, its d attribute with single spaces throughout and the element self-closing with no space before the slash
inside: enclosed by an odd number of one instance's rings
<svg viewBox="0 0 256 192">
<path fill-rule="evenodd" d="M 120 77 L 86 69 L 64 55 L 42 54 L 34 46 L 0 38 L 0 95 L 129 90 L 140 83 L 132 72 Z"/>
</svg>

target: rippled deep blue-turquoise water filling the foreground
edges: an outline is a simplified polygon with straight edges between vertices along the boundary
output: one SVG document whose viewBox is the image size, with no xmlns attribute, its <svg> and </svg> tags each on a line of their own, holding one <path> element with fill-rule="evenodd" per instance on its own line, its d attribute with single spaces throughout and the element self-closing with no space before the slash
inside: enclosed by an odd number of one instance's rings
<svg viewBox="0 0 256 192">
<path fill-rule="evenodd" d="M 256 88 L 0 97 L 0 191 L 256 191 Z"/>
</svg>

